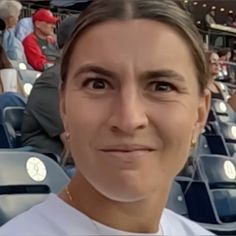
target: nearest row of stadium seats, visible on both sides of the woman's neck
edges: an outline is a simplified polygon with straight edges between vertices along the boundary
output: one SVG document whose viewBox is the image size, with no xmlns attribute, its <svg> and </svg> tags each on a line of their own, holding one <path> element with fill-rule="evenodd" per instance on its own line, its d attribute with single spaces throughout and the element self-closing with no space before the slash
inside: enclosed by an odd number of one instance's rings
<svg viewBox="0 0 236 236">
<path fill-rule="evenodd" d="M 0 162 L 0 225 L 69 182 L 61 166 L 43 154 L 1 150 Z M 235 234 L 235 166 L 225 156 L 200 157 L 193 178 L 176 177 L 167 208 L 219 235 Z"/>
</svg>

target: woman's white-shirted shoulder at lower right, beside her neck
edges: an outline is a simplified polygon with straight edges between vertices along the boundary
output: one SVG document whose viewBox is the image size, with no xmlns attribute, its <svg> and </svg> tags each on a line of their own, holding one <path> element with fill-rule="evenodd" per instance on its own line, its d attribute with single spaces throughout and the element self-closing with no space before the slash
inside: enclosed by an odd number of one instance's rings
<svg viewBox="0 0 236 236">
<path fill-rule="evenodd" d="M 196 222 L 169 209 L 164 210 L 161 225 L 165 235 L 214 235 Z"/>
</svg>

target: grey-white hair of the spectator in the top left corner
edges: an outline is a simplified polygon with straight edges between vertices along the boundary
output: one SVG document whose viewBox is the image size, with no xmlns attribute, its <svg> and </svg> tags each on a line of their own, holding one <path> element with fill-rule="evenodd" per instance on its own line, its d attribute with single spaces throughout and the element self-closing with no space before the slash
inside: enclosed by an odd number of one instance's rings
<svg viewBox="0 0 236 236">
<path fill-rule="evenodd" d="M 0 18 L 16 16 L 22 10 L 22 4 L 15 0 L 0 0 Z"/>
</svg>

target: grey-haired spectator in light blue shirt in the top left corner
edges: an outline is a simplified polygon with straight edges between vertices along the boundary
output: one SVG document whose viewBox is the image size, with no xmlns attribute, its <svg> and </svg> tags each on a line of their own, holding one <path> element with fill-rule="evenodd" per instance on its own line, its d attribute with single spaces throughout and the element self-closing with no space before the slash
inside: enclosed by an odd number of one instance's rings
<svg viewBox="0 0 236 236">
<path fill-rule="evenodd" d="M 22 5 L 15 0 L 0 1 L 0 18 L 5 22 L 2 45 L 11 60 L 25 61 L 24 48 L 15 36 L 15 26 L 21 14 Z"/>
</svg>

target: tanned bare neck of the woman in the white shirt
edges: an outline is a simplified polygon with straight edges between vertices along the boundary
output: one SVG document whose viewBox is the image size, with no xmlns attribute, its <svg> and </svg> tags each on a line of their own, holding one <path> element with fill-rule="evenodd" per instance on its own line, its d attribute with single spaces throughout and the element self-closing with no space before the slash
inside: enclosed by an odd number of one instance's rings
<svg viewBox="0 0 236 236">
<path fill-rule="evenodd" d="M 60 197 L 91 219 L 109 227 L 134 233 L 154 233 L 159 230 L 162 211 L 168 198 L 169 186 L 160 187 L 148 199 L 123 203 L 106 198 L 96 191 L 82 175 L 68 186 L 69 194 Z"/>
</svg>

